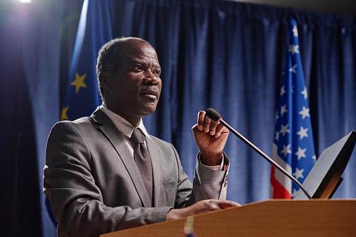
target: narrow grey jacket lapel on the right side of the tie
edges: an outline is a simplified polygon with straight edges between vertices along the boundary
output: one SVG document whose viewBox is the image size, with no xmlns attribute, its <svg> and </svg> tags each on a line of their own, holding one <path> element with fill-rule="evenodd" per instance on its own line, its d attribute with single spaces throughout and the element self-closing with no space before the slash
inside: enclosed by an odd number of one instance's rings
<svg viewBox="0 0 356 237">
<path fill-rule="evenodd" d="M 153 203 L 154 206 L 159 205 L 159 188 L 161 183 L 160 162 L 161 154 L 157 150 L 157 145 L 151 139 L 146 139 L 146 145 L 148 152 L 150 152 L 150 158 L 152 163 L 152 176 L 153 176 Z"/>
</svg>

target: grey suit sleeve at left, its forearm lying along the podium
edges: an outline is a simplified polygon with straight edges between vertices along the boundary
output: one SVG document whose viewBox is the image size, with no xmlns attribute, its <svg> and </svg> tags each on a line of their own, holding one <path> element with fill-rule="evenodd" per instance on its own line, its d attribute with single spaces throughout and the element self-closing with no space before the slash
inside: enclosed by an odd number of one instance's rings
<svg viewBox="0 0 356 237">
<path fill-rule="evenodd" d="M 69 122 L 57 123 L 48 137 L 43 191 L 59 223 L 58 236 L 99 236 L 166 220 L 170 207 L 104 205 L 90 162 L 90 149 L 80 130 Z"/>
</svg>

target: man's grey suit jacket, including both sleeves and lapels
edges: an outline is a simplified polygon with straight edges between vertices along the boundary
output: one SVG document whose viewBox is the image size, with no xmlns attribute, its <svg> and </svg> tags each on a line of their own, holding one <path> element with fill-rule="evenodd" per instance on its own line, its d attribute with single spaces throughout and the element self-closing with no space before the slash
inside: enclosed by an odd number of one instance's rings
<svg viewBox="0 0 356 237">
<path fill-rule="evenodd" d="M 48 137 L 43 190 L 58 236 L 99 236 L 162 222 L 171 208 L 226 198 L 228 168 L 213 171 L 197 162 L 192 188 L 173 145 L 151 138 L 146 143 L 153 207 L 124 138 L 104 112 L 97 109 L 91 117 L 55 124 Z"/>
</svg>

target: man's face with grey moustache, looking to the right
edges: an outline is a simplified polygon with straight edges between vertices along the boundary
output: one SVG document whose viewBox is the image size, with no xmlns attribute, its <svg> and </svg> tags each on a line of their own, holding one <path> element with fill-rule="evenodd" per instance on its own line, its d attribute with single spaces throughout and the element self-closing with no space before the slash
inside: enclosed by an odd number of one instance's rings
<svg viewBox="0 0 356 237">
<path fill-rule="evenodd" d="M 106 106 L 131 122 L 155 112 L 162 88 L 161 66 L 148 43 L 129 40 L 122 53 L 118 71 L 110 78 Z"/>
</svg>

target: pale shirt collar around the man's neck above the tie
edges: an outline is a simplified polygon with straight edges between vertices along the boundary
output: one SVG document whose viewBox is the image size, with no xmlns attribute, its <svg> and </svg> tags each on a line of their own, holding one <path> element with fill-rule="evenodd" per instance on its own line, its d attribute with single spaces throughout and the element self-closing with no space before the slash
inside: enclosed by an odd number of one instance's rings
<svg viewBox="0 0 356 237">
<path fill-rule="evenodd" d="M 108 110 L 104 106 L 100 106 L 100 109 L 110 118 L 111 121 L 113 121 L 113 123 L 115 124 L 115 127 L 119 131 L 121 131 L 127 137 L 131 138 L 132 132 L 134 131 L 134 126 L 132 126 L 132 124 L 130 124 L 127 120 L 125 120 L 120 115 L 113 113 L 113 111 L 111 111 L 111 110 Z M 147 138 L 150 138 L 150 135 L 148 135 L 148 132 L 146 131 L 145 126 L 143 125 L 142 118 L 141 118 L 140 123 L 138 124 L 137 128 L 141 129 L 141 131 L 143 132 L 143 134 L 145 134 L 145 136 Z"/>
</svg>

